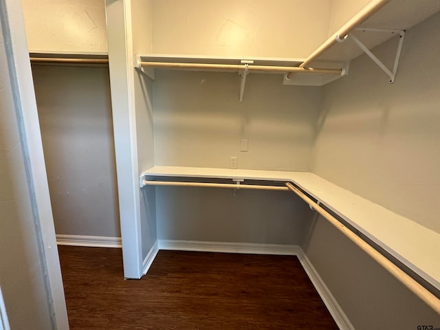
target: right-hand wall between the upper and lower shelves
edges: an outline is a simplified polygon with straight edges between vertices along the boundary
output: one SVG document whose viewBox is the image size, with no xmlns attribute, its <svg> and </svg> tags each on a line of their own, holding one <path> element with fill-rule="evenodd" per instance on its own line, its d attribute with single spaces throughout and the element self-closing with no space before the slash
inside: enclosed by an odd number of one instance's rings
<svg viewBox="0 0 440 330">
<path fill-rule="evenodd" d="M 369 58 L 323 89 L 313 173 L 440 232 L 440 14 L 408 31 L 395 83 Z M 374 50 L 393 60 L 395 41 Z M 391 60 L 391 61 L 390 61 Z"/>
</svg>

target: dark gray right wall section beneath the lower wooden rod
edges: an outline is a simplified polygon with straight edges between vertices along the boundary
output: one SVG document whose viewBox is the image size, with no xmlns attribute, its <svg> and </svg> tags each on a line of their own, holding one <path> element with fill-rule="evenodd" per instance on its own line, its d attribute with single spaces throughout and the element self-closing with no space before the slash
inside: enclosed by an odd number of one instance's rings
<svg viewBox="0 0 440 330">
<path fill-rule="evenodd" d="M 326 219 L 313 225 L 305 254 L 356 330 L 440 326 L 440 316 Z"/>
</svg>

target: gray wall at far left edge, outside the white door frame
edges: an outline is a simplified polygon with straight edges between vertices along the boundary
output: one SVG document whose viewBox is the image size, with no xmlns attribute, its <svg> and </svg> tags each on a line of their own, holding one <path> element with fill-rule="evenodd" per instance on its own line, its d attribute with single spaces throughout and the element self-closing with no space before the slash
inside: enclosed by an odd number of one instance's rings
<svg viewBox="0 0 440 330">
<path fill-rule="evenodd" d="M 0 25 L 0 287 L 11 329 L 52 329 L 16 111 Z"/>
</svg>

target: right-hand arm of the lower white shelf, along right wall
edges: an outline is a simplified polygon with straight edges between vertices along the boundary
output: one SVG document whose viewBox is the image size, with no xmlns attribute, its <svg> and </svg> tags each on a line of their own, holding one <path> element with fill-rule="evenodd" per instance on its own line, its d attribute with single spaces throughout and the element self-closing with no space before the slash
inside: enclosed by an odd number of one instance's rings
<svg viewBox="0 0 440 330">
<path fill-rule="evenodd" d="M 292 181 L 440 290 L 439 233 L 317 175 L 297 175 Z"/>
</svg>

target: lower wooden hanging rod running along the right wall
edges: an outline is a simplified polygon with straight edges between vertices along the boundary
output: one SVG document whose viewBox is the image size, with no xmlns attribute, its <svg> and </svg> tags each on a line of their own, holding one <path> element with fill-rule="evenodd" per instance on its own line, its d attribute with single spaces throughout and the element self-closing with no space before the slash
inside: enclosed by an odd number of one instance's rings
<svg viewBox="0 0 440 330">
<path fill-rule="evenodd" d="M 425 287 L 423 287 L 420 283 L 415 281 L 411 276 L 406 274 L 403 270 L 401 270 L 399 267 L 397 267 L 394 263 L 392 263 L 390 260 L 386 259 L 386 257 L 380 252 L 377 252 L 369 243 L 366 243 L 363 239 L 361 239 L 358 235 L 356 235 L 354 232 L 349 230 L 345 225 L 340 223 L 338 219 L 333 217 L 329 212 L 324 210 L 322 207 L 318 205 L 313 199 L 309 198 L 307 195 L 305 195 L 304 192 L 296 188 L 294 185 L 290 184 L 289 182 L 286 184 L 286 186 L 296 193 L 301 199 L 303 199 L 306 203 L 308 203 L 316 212 L 322 215 L 322 217 L 325 217 L 332 225 L 334 225 L 342 234 L 347 236 L 353 243 L 358 245 L 359 248 L 361 248 L 366 254 L 371 256 L 377 263 L 380 263 L 382 267 L 384 267 L 388 272 L 390 272 L 397 280 L 399 280 L 402 284 L 404 284 L 408 289 L 410 289 L 414 294 L 416 294 L 423 302 L 425 302 L 429 307 L 431 307 L 434 311 L 437 312 L 437 314 L 440 315 L 440 299 L 434 296 L 431 292 L 429 292 Z"/>
</svg>

